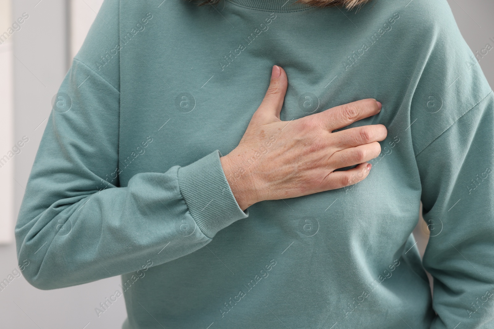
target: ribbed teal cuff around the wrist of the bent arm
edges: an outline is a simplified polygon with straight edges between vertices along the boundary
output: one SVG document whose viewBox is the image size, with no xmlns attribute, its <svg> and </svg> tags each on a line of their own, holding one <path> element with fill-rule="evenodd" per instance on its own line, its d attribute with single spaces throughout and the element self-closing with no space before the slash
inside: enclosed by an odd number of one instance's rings
<svg viewBox="0 0 494 329">
<path fill-rule="evenodd" d="M 248 217 L 240 209 L 226 180 L 215 150 L 202 159 L 178 169 L 178 184 L 197 226 L 212 238 L 220 229 Z"/>
</svg>

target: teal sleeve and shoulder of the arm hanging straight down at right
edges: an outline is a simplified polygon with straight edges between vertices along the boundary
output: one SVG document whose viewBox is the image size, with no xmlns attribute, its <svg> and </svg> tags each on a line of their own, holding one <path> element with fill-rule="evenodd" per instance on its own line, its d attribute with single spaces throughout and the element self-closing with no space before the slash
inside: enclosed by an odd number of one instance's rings
<svg viewBox="0 0 494 329">
<path fill-rule="evenodd" d="M 410 127 L 430 229 L 431 329 L 494 328 L 494 94 L 445 0 L 413 1 Z M 404 19 L 405 21 L 405 19 Z M 412 54 L 412 53 L 411 53 Z"/>
</svg>

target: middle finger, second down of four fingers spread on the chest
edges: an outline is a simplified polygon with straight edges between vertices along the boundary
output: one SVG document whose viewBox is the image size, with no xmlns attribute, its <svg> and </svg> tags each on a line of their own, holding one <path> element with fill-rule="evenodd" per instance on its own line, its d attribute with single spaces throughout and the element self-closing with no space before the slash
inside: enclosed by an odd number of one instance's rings
<svg viewBox="0 0 494 329">
<path fill-rule="evenodd" d="M 387 135 L 388 130 L 382 124 L 349 128 L 331 134 L 335 143 L 334 146 L 339 150 L 381 142 L 386 139 Z"/>
</svg>

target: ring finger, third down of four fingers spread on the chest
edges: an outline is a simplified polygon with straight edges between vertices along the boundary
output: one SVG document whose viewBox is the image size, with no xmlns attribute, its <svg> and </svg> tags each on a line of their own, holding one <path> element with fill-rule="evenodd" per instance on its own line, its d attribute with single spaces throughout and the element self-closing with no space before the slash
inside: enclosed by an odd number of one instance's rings
<svg viewBox="0 0 494 329">
<path fill-rule="evenodd" d="M 376 158 L 381 153 L 378 142 L 342 149 L 334 152 L 329 158 L 330 169 L 354 166 Z"/>
</svg>

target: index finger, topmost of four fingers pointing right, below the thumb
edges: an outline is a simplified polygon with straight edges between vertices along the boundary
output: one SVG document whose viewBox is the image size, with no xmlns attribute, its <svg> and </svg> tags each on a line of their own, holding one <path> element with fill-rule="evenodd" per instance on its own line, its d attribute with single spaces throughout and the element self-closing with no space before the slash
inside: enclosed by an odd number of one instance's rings
<svg viewBox="0 0 494 329">
<path fill-rule="evenodd" d="M 373 98 L 343 104 L 329 110 L 312 115 L 331 132 L 346 127 L 355 121 L 375 115 L 381 111 L 382 105 Z"/>
</svg>

